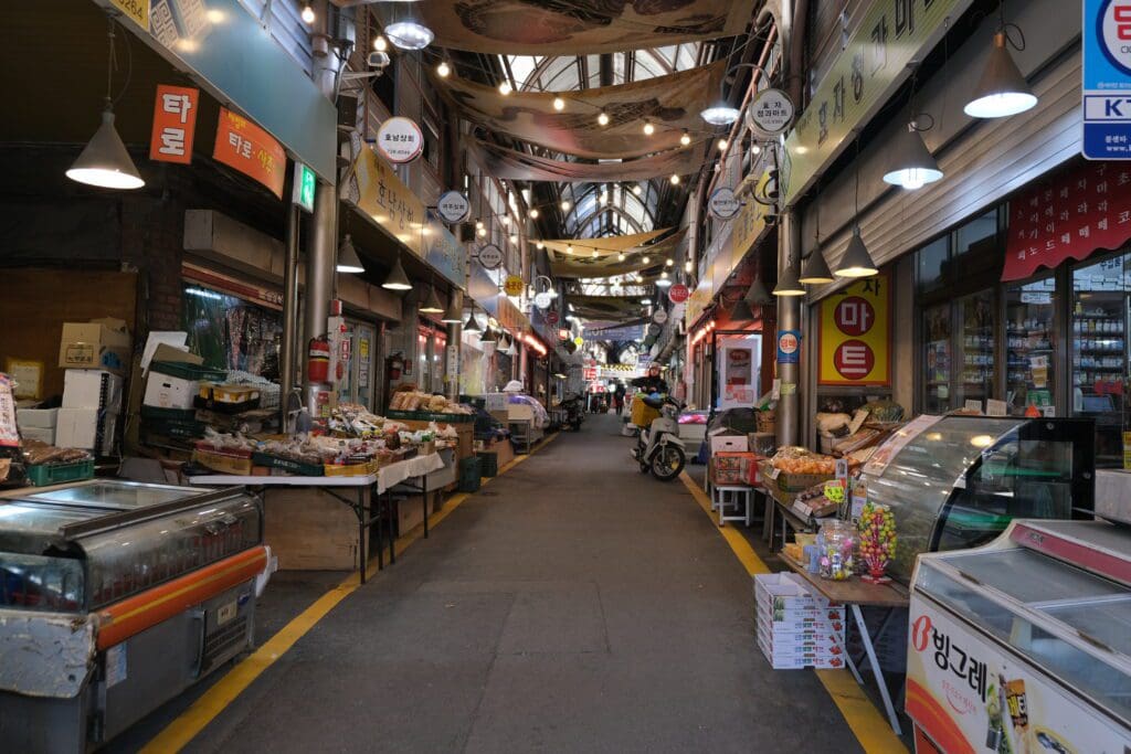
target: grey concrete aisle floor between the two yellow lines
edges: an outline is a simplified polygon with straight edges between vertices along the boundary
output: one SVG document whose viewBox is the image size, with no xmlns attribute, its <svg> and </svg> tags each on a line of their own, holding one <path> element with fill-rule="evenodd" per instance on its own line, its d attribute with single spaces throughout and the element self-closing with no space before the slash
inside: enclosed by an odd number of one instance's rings
<svg viewBox="0 0 1131 754">
<path fill-rule="evenodd" d="M 769 668 L 745 571 L 619 428 L 589 415 L 468 499 L 188 751 L 861 751 L 813 673 Z"/>
</svg>

